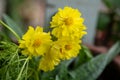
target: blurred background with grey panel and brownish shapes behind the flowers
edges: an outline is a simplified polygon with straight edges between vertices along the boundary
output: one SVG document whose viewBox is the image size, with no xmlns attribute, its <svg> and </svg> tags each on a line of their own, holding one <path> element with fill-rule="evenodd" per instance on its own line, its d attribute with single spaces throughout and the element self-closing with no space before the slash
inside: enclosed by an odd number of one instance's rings
<svg viewBox="0 0 120 80">
<path fill-rule="evenodd" d="M 71 6 L 81 11 L 88 34 L 83 43 L 94 56 L 105 53 L 120 40 L 120 0 L 0 0 L 0 19 L 8 15 L 17 28 L 40 25 L 47 31 L 58 8 Z M 0 40 L 6 39 L 0 27 Z M 117 56 L 98 80 L 120 80 L 120 57 Z"/>
</svg>

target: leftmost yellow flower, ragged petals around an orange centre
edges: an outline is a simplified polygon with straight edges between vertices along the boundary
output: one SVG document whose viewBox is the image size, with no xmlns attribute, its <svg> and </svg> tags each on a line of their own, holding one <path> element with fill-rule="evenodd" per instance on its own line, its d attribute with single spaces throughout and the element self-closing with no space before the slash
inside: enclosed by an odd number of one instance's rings
<svg viewBox="0 0 120 80">
<path fill-rule="evenodd" d="M 34 30 L 29 27 L 28 31 L 19 41 L 19 48 L 22 49 L 22 54 L 28 56 L 40 56 L 46 53 L 51 44 L 51 36 L 49 33 L 43 32 L 43 28 L 37 26 Z"/>
</svg>

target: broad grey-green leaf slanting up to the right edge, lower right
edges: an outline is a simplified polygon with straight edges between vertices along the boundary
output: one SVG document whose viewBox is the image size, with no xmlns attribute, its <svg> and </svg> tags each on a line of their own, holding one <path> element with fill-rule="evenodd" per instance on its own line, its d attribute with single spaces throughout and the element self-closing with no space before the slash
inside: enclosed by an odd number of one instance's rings
<svg viewBox="0 0 120 80">
<path fill-rule="evenodd" d="M 117 42 L 106 54 L 98 55 L 89 62 L 79 66 L 69 74 L 70 80 L 96 80 L 106 65 L 120 52 L 120 42 Z"/>
</svg>

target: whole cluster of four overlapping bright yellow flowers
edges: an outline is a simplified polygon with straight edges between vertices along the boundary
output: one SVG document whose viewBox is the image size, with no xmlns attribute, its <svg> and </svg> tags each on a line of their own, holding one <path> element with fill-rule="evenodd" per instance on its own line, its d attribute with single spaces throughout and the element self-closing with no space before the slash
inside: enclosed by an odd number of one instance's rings
<svg viewBox="0 0 120 80">
<path fill-rule="evenodd" d="M 39 69 L 53 70 L 61 60 L 76 57 L 81 49 L 81 38 L 86 34 L 84 19 L 78 9 L 64 7 L 52 17 L 50 33 L 43 32 L 41 27 L 29 27 L 29 30 L 20 40 L 19 48 L 22 54 L 41 56 Z M 51 36 L 52 35 L 52 36 Z M 52 40 L 51 37 L 57 40 Z"/>
</svg>

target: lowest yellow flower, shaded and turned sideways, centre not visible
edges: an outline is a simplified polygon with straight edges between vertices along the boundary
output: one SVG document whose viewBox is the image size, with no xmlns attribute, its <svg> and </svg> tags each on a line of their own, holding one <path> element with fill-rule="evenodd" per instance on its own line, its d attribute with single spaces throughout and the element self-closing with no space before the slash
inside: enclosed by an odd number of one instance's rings
<svg viewBox="0 0 120 80">
<path fill-rule="evenodd" d="M 43 71 L 51 71 L 56 65 L 60 63 L 58 50 L 51 47 L 47 53 L 42 57 L 39 63 L 39 69 Z"/>
</svg>

